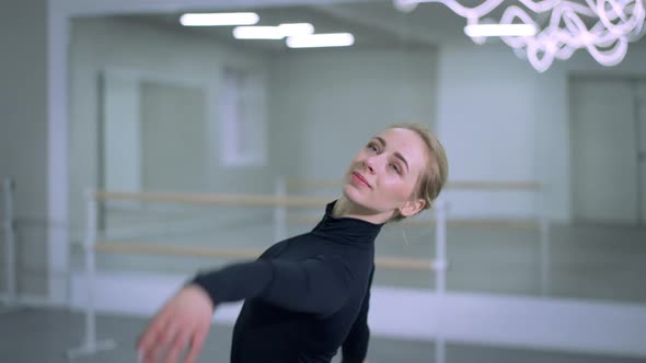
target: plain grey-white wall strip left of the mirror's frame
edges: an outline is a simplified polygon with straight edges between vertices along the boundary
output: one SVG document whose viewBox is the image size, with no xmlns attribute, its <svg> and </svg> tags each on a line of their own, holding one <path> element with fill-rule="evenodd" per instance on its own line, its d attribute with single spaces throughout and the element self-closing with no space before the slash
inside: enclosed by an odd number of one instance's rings
<svg viewBox="0 0 646 363">
<path fill-rule="evenodd" d="M 18 286 L 23 296 L 47 294 L 46 28 L 46 0 L 0 3 L 0 178 L 16 184 Z M 1 293 L 4 269 L 0 277 Z"/>
</svg>

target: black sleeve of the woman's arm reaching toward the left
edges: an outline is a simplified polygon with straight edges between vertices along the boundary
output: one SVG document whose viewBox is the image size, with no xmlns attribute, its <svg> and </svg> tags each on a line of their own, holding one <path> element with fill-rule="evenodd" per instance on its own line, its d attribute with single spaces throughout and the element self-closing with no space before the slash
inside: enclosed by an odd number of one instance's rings
<svg viewBox="0 0 646 363">
<path fill-rule="evenodd" d="M 214 304 L 256 297 L 295 312 L 327 315 L 343 306 L 353 279 L 341 258 L 316 256 L 231 265 L 198 274 L 193 283 L 205 289 Z"/>
</svg>

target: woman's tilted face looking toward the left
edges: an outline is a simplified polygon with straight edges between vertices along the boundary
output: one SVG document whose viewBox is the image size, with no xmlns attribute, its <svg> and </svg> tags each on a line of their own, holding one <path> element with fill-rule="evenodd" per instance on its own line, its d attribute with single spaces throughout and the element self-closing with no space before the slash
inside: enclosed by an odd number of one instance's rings
<svg viewBox="0 0 646 363">
<path fill-rule="evenodd" d="M 426 160 L 426 144 L 415 131 L 387 129 L 370 139 L 353 159 L 343 192 L 365 213 L 390 218 L 399 211 L 409 215 L 406 208 L 424 207 L 409 203 L 416 200 L 415 189 Z"/>
</svg>

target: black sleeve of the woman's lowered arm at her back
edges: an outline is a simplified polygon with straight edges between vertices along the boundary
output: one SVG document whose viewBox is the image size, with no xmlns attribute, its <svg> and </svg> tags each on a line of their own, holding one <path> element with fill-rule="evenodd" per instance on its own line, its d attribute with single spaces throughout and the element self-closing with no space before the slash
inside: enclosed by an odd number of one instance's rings
<svg viewBox="0 0 646 363">
<path fill-rule="evenodd" d="M 343 363 L 361 363 L 368 354 L 368 342 L 370 340 L 370 328 L 368 327 L 368 311 L 370 309 L 370 289 L 372 288 L 372 277 L 374 276 L 374 266 L 370 271 L 368 290 L 361 303 L 359 315 L 355 319 L 350 332 L 342 346 Z"/>
</svg>

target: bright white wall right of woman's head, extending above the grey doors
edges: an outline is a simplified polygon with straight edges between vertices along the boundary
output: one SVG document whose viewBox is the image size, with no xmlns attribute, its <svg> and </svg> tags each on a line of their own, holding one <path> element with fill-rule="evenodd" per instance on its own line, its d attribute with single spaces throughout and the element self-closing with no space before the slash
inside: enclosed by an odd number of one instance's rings
<svg viewBox="0 0 646 363">
<path fill-rule="evenodd" d="M 642 75 L 644 40 L 622 63 L 604 68 L 584 51 L 544 73 L 506 46 L 443 46 L 439 56 L 438 130 L 449 154 L 451 180 L 539 182 L 529 192 L 449 194 L 453 214 L 570 219 L 569 74 Z M 505 195 L 505 197 L 503 197 Z M 466 197 L 471 198 L 466 204 Z M 500 198 L 503 197 L 503 198 Z"/>
</svg>

